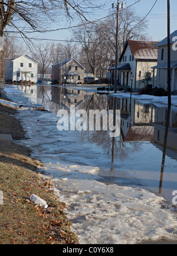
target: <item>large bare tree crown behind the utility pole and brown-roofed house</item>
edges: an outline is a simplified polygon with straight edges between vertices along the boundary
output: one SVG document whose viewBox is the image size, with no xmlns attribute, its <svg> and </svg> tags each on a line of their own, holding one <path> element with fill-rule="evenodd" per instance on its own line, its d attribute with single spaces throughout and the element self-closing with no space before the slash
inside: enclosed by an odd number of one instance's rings
<svg viewBox="0 0 177 256">
<path fill-rule="evenodd" d="M 146 20 L 135 14 L 134 8 L 126 8 L 120 12 L 118 59 L 128 39 L 145 40 Z M 82 55 L 94 74 L 102 78 L 107 67 L 115 57 L 116 50 L 116 18 L 109 15 L 105 21 L 89 24 L 74 30 L 74 38 L 80 41 Z M 86 63 L 84 66 L 88 66 Z"/>
</svg>

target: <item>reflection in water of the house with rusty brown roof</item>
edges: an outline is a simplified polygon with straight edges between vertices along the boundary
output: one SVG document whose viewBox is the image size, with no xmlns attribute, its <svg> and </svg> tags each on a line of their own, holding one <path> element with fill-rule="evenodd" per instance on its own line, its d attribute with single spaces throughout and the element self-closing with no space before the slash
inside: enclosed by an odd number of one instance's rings
<svg viewBox="0 0 177 256">
<path fill-rule="evenodd" d="M 152 141 L 154 133 L 152 122 L 155 119 L 153 105 L 141 104 L 130 98 L 117 98 L 116 104 L 117 109 L 120 110 L 121 133 L 124 142 Z"/>
</svg>

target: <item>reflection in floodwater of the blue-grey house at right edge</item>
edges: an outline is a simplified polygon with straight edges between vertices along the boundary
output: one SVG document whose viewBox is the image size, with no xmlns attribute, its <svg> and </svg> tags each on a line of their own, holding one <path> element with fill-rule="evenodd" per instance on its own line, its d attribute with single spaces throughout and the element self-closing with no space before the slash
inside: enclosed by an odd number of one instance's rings
<svg viewBox="0 0 177 256">
<path fill-rule="evenodd" d="M 166 123 L 166 107 L 155 108 L 155 122 L 154 122 L 154 141 L 155 143 L 163 144 L 165 136 L 165 123 Z M 171 109 L 168 139 L 166 146 L 172 149 L 177 149 L 177 108 Z"/>
</svg>

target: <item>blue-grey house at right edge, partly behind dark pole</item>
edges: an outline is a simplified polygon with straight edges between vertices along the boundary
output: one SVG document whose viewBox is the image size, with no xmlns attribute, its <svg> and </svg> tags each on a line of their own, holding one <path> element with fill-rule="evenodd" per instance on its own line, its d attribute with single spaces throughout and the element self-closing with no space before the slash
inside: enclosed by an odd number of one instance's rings
<svg viewBox="0 0 177 256">
<path fill-rule="evenodd" d="M 177 90 L 177 30 L 171 34 L 171 91 Z M 158 44 L 158 65 L 152 68 L 157 71 L 156 87 L 168 88 L 168 38 L 166 37 Z"/>
</svg>

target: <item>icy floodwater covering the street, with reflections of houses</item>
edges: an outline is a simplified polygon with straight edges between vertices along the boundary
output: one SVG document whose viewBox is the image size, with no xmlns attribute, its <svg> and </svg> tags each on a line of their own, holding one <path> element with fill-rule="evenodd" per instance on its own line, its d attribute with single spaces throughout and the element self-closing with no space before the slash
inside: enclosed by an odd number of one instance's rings
<svg viewBox="0 0 177 256">
<path fill-rule="evenodd" d="M 114 98 L 94 87 L 14 88 L 19 93 L 8 97 L 22 105 L 17 117 L 27 131 L 18 143 L 44 163 L 39 171 L 67 203 L 80 244 L 176 240 L 177 107 L 168 111 L 165 105 Z M 116 106 L 120 136 L 110 137 L 110 130 L 58 130 L 58 110 L 70 111 L 71 105 L 88 116 L 89 110 Z"/>
</svg>

